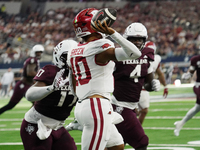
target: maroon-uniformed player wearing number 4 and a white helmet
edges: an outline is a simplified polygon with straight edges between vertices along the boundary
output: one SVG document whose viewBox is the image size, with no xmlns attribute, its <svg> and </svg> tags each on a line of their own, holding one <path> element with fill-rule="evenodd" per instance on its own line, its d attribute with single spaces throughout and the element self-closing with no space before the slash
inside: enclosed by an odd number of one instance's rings
<svg viewBox="0 0 200 150">
<path fill-rule="evenodd" d="M 144 47 L 148 38 L 146 27 L 141 23 L 130 24 L 123 35 L 140 49 L 142 55 L 136 60 L 115 62 L 114 92 L 111 103 L 115 112 L 122 115 L 124 121 L 116 124 L 124 142 L 135 150 L 146 150 L 149 139 L 145 134 L 135 112 L 142 87 L 147 91 L 158 91 L 159 80 L 154 79 L 150 62 L 154 60 L 154 50 Z"/>
</svg>

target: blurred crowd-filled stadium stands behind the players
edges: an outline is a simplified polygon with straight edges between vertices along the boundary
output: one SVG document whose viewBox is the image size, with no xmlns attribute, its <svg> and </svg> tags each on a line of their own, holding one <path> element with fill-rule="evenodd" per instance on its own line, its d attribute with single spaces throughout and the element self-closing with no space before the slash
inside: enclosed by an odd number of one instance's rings
<svg viewBox="0 0 200 150">
<path fill-rule="evenodd" d="M 171 83 L 187 70 L 191 56 L 199 53 L 199 0 L 7 0 L 0 14 L 0 75 L 8 67 L 17 71 L 36 43 L 45 46 L 42 66 L 51 63 L 53 47 L 75 38 L 72 20 L 83 8 L 117 9 L 113 28 L 123 34 L 132 22 L 143 23 L 148 40 L 157 45 L 165 70 L 173 64 Z"/>
</svg>

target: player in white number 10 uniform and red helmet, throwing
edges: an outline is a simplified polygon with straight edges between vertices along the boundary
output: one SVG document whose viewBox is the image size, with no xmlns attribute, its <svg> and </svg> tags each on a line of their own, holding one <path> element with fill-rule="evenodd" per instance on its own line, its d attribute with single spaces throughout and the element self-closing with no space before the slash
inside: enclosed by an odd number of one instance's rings
<svg viewBox="0 0 200 150">
<path fill-rule="evenodd" d="M 82 150 L 123 150 L 122 136 L 115 123 L 123 118 L 113 112 L 110 103 L 113 92 L 114 62 L 126 59 L 137 59 L 141 56 L 139 49 L 123 38 L 118 32 L 102 26 L 100 21 L 91 27 L 91 19 L 98 10 L 84 9 L 74 18 L 73 24 L 77 37 L 83 41 L 68 53 L 68 65 L 71 68 L 73 90 L 78 97 L 75 107 L 75 118 L 83 126 Z M 103 38 L 109 35 L 121 48 Z M 113 60 L 113 61 L 112 61 Z"/>
</svg>

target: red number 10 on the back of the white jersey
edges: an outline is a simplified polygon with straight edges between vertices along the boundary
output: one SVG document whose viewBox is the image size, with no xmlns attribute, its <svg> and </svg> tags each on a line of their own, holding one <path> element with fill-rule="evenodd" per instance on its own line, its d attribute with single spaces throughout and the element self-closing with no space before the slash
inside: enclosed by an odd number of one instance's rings
<svg viewBox="0 0 200 150">
<path fill-rule="evenodd" d="M 91 79 L 91 72 L 85 57 L 71 58 L 72 70 L 75 74 L 76 86 L 87 84 Z"/>
</svg>

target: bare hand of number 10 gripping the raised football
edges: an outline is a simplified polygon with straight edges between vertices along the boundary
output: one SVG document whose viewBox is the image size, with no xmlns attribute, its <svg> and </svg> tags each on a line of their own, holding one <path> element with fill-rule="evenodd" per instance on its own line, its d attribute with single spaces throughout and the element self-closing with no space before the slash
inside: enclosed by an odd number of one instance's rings
<svg viewBox="0 0 200 150">
<path fill-rule="evenodd" d="M 104 34 L 107 34 L 107 35 L 111 35 L 113 33 L 115 33 L 115 30 L 111 27 L 108 27 L 106 21 L 104 20 L 104 25 L 101 24 L 101 22 L 98 20 L 98 24 L 96 21 L 94 21 L 94 24 L 95 24 L 95 28 L 93 28 L 91 26 L 91 28 L 95 31 L 98 31 L 98 32 L 101 32 L 101 33 L 104 33 Z"/>
</svg>

